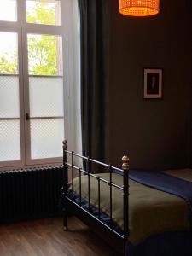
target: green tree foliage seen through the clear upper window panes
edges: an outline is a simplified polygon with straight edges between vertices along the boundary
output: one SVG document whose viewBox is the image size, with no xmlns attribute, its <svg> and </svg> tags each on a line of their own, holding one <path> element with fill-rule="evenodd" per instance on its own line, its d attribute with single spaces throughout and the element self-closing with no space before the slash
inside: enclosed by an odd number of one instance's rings
<svg viewBox="0 0 192 256">
<path fill-rule="evenodd" d="M 39 24 L 55 24 L 55 8 L 46 3 L 35 3 L 27 11 L 27 21 Z M 28 35 L 29 74 L 57 75 L 58 68 L 58 37 L 48 35 Z M 17 73 L 16 54 L 9 56 L 0 53 L 0 73 Z"/>
</svg>

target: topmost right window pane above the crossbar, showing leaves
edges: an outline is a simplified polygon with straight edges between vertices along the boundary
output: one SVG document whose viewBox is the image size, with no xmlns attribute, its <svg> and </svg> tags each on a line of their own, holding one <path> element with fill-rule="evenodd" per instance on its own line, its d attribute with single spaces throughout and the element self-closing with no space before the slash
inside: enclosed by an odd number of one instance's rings
<svg viewBox="0 0 192 256">
<path fill-rule="evenodd" d="M 44 25 L 61 25 L 61 0 L 26 1 L 26 21 Z"/>
</svg>

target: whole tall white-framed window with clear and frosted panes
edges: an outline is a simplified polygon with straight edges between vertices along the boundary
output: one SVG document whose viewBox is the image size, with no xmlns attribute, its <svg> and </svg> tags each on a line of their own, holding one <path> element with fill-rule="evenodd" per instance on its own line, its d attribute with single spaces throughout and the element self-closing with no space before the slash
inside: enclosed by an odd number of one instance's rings
<svg viewBox="0 0 192 256">
<path fill-rule="evenodd" d="M 61 142 L 74 131 L 69 116 L 73 84 L 79 81 L 77 3 L 5 0 L 1 4 L 0 167 L 61 162 Z"/>
</svg>

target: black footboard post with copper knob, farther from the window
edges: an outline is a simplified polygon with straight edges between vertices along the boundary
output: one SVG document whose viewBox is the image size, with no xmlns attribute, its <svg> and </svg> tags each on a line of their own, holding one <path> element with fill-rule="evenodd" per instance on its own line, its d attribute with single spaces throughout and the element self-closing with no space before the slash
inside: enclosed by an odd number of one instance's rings
<svg viewBox="0 0 192 256">
<path fill-rule="evenodd" d="M 129 157 L 123 156 L 122 169 L 124 171 L 124 192 L 123 192 L 123 203 L 124 203 L 124 252 L 126 242 L 129 236 Z"/>
</svg>

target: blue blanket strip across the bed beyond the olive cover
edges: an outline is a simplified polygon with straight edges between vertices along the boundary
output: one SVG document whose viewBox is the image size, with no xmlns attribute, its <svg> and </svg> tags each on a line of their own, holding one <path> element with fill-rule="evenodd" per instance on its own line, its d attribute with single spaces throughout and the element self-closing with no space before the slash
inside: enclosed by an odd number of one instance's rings
<svg viewBox="0 0 192 256">
<path fill-rule="evenodd" d="M 189 204 L 192 212 L 192 183 L 189 181 L 172 177 L 163 172 L 136 170 L 130 170 L 129 177 L 138 183 L 183 198 Z"/>
</svg>

